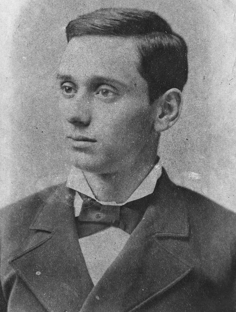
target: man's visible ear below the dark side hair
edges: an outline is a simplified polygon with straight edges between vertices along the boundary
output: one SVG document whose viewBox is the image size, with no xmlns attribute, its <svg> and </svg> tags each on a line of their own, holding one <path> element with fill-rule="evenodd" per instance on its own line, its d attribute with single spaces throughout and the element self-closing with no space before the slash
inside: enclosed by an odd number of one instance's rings
<svg viewBox="0 0 236 312">
<path fill-rule="evenodd" d="M 157 132 L 173 126 L 181 113 L 182 102 L 182 93 L 176 88 L 166 91 L 154 101 L 154 128 Z"/>
</svg>

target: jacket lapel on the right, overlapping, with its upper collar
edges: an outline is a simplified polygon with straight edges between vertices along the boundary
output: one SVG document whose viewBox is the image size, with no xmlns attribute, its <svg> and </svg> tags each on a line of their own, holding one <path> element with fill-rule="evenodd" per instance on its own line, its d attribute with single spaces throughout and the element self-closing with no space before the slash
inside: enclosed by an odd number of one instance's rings
<svg viewBox="0 0 236 312">
<path fill-rule="evenodd" d="M 88 295 L 81 312 L 135 311 L 190 272 L 190 261 L 182 259 L 170 243 L 178 240 L 178 250 L 188 249 L 188 216 L 175 190 L 164 172 L 143 220 Z"/>
</svg>

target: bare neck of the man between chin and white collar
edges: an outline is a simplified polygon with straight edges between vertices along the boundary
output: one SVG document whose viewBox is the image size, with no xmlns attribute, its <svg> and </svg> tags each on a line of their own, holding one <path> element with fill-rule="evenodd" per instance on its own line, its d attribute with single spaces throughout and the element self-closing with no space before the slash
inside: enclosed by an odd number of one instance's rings
<svg viewBox="0 0 236 312">
<path fill-rule="evenodd" d="M 135 161 L 129 168 L 113 173 L 98 174 L 83 171 L 95 197 L 104 202 L 125 202 L 156 163 L 156 153 L 149 159 Z"/>
</svg>

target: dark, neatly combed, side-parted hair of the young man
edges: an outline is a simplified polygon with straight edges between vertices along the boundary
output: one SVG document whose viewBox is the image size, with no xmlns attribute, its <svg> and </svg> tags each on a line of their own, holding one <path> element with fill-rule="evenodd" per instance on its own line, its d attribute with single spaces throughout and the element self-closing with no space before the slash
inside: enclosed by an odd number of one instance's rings
<svg viewBox="0 0 236 312">
<path fill-rule="evenodd" d="M 81 15 L 66 27 L 68 42 L 84 35 L 132 37 L 140 52 L 138 71 L 148 83 L 151 102 L 171 88 L 183 90 L 188 78 L 187 46 L 158 14 L 104 8 Z"/>
</svg>

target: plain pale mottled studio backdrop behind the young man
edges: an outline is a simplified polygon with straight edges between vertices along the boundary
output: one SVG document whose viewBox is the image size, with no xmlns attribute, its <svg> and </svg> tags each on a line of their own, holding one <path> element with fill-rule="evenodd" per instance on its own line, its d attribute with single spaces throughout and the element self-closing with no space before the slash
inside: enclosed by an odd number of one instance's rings
<svg viewBox="0 0 236 312">
<path fill-rule="evenodd" d="M 188 44 L 182 116 L 160 141 L 170 178 L 236 211 L 236 2 L 2 0 L 1 203 L 65 180 L 55 74 L 65 27 L 101 7 L 158 12 Z"/>
</svg>

